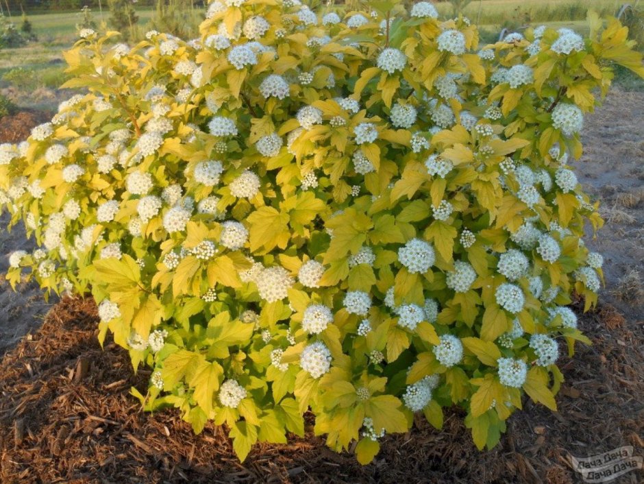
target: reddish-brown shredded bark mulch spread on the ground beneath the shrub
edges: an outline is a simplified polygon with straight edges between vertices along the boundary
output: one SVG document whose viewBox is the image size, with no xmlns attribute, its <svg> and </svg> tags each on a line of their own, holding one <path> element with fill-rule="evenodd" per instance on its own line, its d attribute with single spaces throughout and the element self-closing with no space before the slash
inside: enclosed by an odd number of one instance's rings
<svg viewBox="0 0 644 484">
<path fill-rule="evenodd" d="M 542 483 L 581 482 L 568 463 L 633 445 L 642 454 L 641 323 L 612 306 L 582 317 L 594 346 L 562 357 L 560 413 L 525 402 L 491 452 L 478 452 L 462 412 L 435 431 L 423 420 L 386 436 L 377 461 L 360 466 L 311 432 L 286 445 L 258 444 L 244 463 L 222 431 L 193 435 L 177 411 L 140 411 L 144 390 L 125 350 L 97 343 L 91 300 L 62 300 L 45 324 L 5 354 L 0 367 L 0 481 L 14 483 Z M 641 471 L 621 477 L 635 483 Z"/>
</svg>

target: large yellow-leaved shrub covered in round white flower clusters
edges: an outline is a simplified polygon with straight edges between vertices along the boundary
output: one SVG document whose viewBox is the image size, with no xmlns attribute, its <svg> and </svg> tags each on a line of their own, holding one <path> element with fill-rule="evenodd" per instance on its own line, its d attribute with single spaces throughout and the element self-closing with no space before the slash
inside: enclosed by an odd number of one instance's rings
<svg viewBox="0 0 644 484">
<path fill-rule="evenodd" d="M 88 88 L 21 145 L 0 197 L 53 291 L 91 291 L 146 409 L 256 441 L 315 432 L 371 461 L 414 413 L 467 411 L 493 447 L 522 396 L 556 408 L 565 307 L 596 302 L 602 225 L 570 163 L 619 62 L 617 21 L 478 47 L 465 18 L 210 4 L 201 38 L 129 47 L 91 30 L 66 53 Z"/>
</svg>

